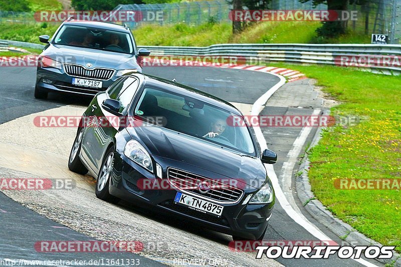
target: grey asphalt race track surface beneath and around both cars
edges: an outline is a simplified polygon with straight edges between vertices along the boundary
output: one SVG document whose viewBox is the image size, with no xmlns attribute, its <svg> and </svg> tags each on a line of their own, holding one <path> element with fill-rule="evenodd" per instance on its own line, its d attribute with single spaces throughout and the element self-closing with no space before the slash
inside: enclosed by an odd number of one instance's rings
<svg viewBox="0 0 401 267">
<path fill-rule="evenodd" d="M 249 112 L 252 104 L 280 80 L 265 72 L 214 67 L 153 67 L 145 68 L 144 72 L 168 79 L 175 78 L 178 82 L 212 93 L 233 102 L 243 113 Z M 33 67 L 0 68 L 0 177 L 70 177 L 77 181 L 77 187 L 73 190 L 47 192 L 10 190 L 5 192 L 8 196 L 0 192 L 0 258 L 91 259 L 129 256 L 138 258 L 141 265 L 145 266 L 161 263 L 171 265 L 177 258 L 220 258 L 221 265 L 226 266 L 279 266 L 280 263 L 285 266 L 369 265 L 367 261 L 362 264 L 335 255 L 330 259 L 255 259 L 256 252 L 231 251 L 228 248 L 232 240 L 229 235 L 195 227 L 179 218 L 161 215 L 158 210 L 144 209 L 124 201 L 113 205 L 97 199 L 94 179 L 75 174 L 67 168 L 76 129 L 38 128 L 32 123 L 34 113 L 38 112 L 52 115 L 59 115 L 58 112 L 82 113 L 90 99 L 56 94 L 50 94 L 47 100 L 35 99 L 35 74 L 36 68 Z M 270 105 L 269 101 L 261 114 L 312 114 L 322 109 L 317 97 L 308 99 L 313 95 L 312 92 L 299 96 L 297 86 L 310 85 L 308 79 L 286 83 L 273 97 L 281 97 L 281 102 L 287 101 L 288 105 L 283 106 L 280 101 L 273 101 Z M 321 232 L 341 244 L 338 237 L 303 210 L 296 192 L 292 190 L 291 174 L 297 171 L 298 164 L 290 164 L 289 152 L 294 149 L 293 144 L 301 130 L 298 127 L 262 129 L 268 147 L 279 156 L 274 171 L 293 208 L 300 210 Z M 315 129 L 310 130 L 304 143 L 312 139 L 314 132 Z M 288 172 L 290 178 L 283 180 Z M 264 239 L 318 240 L 301 224 L 296 218 L 290 217 L 280 202 L 276 201 Z M 139 240 L 144 243 L 145 249 L 139 254 L 43 253 L 34 249 L 34 243 L 39 240 L 96 238 Z M 370 262 L 380 266 L 377 261 Z"/>
</svg>

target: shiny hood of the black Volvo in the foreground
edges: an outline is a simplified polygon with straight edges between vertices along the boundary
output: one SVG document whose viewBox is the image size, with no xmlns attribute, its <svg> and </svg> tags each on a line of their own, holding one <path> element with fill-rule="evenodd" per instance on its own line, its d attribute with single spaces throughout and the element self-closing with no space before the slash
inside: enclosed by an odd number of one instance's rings
<svg viewBox="0 0 401 267">
<path fill-rule="evenodd" d="M 259 158 L 163 127 L 128 127 L 127 130 L 151 155 L 204 168 L 218 174 L 217 177 L 224 175 L 253 187 L 259 187 L 266 179 L 266 169 Z"/>
</svg>

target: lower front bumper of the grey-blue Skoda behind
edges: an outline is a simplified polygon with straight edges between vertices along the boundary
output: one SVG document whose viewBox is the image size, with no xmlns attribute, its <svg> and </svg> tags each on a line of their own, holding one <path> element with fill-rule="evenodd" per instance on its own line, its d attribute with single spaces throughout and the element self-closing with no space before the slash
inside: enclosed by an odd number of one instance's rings
<svg viewBox="0 0 401 267">
<path fill-rule="evenodd" d="M 51 84 L 43 82 L 43 79 L 50 79 Z M 103 82 L 102 88 L 87 87 L 72 84 L 73 76 L 65 73 L 64 69 L 55 67 L 38 67 L 36 74 L 36 86 L 41 91 L 47 92 L 65 92 L 74 93 L 85 96 L 94 96 L 100 91 L 105 91 L 118 77 L 115 74 L 108 80 L 101 80 Z M 87 78 L 95 80 L 92 78 Z"/>
</svg>

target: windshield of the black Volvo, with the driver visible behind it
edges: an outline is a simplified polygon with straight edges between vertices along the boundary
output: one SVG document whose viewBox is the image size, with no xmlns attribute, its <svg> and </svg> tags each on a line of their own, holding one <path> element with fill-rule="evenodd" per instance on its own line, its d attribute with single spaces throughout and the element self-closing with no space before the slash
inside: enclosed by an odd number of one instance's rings
<svg viewBox="0 0 401 267">
<path fill-rule="evenodd" d="M 233 116 L 237 120 L 240 116 L 206 102 L 160 88 L 145 87 L 134 113 L 142 119 L 162 117 L 165 123 L 161 126 L 165 128 L 255 155 L 248 126 L 230 123 Z"/>
</svg>

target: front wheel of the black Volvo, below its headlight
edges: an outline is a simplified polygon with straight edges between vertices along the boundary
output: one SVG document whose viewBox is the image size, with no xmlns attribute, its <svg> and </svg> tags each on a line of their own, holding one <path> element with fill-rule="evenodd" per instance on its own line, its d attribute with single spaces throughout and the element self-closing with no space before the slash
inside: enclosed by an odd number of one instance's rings
<svg viewBox="0 0 401 267">
<path fill-rule="evenodd" d="M 111 157 L 111 159 L 109 159 Z M 113 147 L 110 147 L 103 160 L 102 166 L 100 167 L 99 173 L 96 179 L 96 197 L 110 203 L 117 203 L 120 199 L 109 192 L 110 184 L 110 172 L 113 167 L 114 152 Z M 111 164 L 111 165 L 109 165 Z M 108 172 L 108 173 L 107 173 Z M 105 174 L 106 173 L 106 174 Z M 104 176 L 103 176 L 104 175 Z"/>
</svg>

